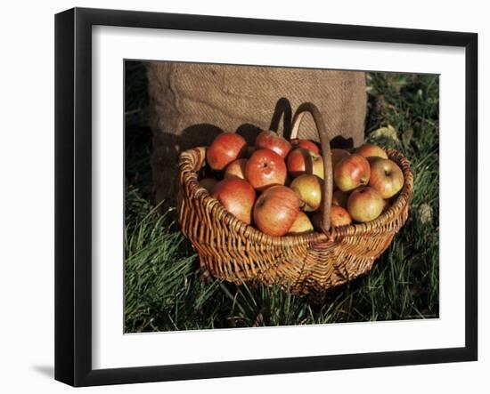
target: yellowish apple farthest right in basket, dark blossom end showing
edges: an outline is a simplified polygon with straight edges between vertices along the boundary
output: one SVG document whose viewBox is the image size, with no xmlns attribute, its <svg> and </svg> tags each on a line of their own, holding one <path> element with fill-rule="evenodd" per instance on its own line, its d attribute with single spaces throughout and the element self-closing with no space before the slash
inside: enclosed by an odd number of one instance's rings
<svg viewBox="0 0 490 394">
<path fill-rule="evenodd" d="M 381 197 L 393 197 L 404 187 L 404 173 L 388 158 L 373 160 L 369 186 L 380 192 Z"/>
</svg>

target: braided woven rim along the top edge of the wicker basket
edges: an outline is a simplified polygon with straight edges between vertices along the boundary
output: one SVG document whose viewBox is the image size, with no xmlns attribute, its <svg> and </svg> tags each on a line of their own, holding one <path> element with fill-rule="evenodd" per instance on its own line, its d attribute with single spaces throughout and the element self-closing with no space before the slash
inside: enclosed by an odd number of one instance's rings
<svg viewBox="0 0 490 394">
<path fill-rule="evenodd" d="M 196 165 L 201 167 L 204 164 L 205 155 L 206 155 L 206 147 L 197 147 L 193 149 L 187 149 L 180 155 L 179 167 L 181 173 L 181 184 L 184 183 L 184 173 L 189 173 L 191 175 L 188 178 L 187 183 L 191 195 L 189 197 L 194 197 L 202 201 L 202 203 L 210 206 L 211 210 L 216 210 L 216 214 L 219 218 L 222 218 L 225 223 L 233 226 L 238 232 L 241 232 L 244 236 L 248 237 L 257 237 L 262 243 L 283 243 L 286 242 L 288 244 L 293 245 L 303 245 L 303 244 L 326 244 L 326 243 L 334 243 L 341 237 L 351 237 L 356 235 L 363 235 L 369 231 L 375 231 L 377 228 L 380 228 L 382 225 L 388 223 L 389 221 L 393 221 L 394 218 L 398 217 L 402 214 L 404 207 L 410 204 L 412 199 L 412 191 L 413 191 L 413 173 L 410 167 L 409 160 L 404 157 L 404 155 L 396 150 L 390 149 L 386 147 L 381 147 L 385 150 L 390 160 L 395 161 L 397 165 L 400 166 L 402 172 L 404 173 L 404 187 L 398 193 L 396 200 L 389 206 L 389 208 L 381 213 L 378 218 L 374 221 L 368 221 L 365 223 L 353 223 L 346 226 L 341 226 L 337 228 L 332 228 L 331 237 L 328 237 L 326 234 L 323 234 L 318 231 L 312 231 L 307 234 L 295 234 L 295 235 L 284 235 L 281 237 L 277 236 L 269 236 L 259 229 L 256 229 L 252 225 L 249 225 L 243 221 L 237 219 L 233 213 L 229 213 L 225 210 L 225 207 L 219 203 L 219 201 L 211 197 L 208 193 L 208 190 L 202 188 L 198 181 L 198 173 L 193 168 Z M 185 162 L 183 160 L 184 157 L 196 157 L 196 160 L 192 162 Z M 184 186 L 184 185 L 183 185 Z"/>
</svg>

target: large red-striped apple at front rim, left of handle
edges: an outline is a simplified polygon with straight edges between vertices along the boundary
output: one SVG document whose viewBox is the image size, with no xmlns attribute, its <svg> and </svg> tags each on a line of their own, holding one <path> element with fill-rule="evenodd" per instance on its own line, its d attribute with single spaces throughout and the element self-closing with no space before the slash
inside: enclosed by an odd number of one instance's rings
<svg viewBox="0 0 490 394">
<path fill-rule="evenodd" d="M 298 217 L 299 199 L 286 186 L 266 189 L 254 205 L 253 217 L 257 229 L 274 237 L 286 234 Z"/>
</svg>

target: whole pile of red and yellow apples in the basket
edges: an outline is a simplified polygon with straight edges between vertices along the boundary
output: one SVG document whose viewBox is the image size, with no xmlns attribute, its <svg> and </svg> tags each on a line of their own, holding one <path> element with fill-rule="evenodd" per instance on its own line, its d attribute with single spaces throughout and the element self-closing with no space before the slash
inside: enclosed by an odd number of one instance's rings
<svg viewBox="0 0 490 394">
<path fill-rule="evenodd" d="M 222 133 L 206 161 L 200 186 L 237 219 L 270 236 L 321 230 L 323 157 L 314 141 L 263 131 L 251 147 L 237 133 Z M 373 221 L 404 186 L 402 170 L 376 145 L 331 149 L 331 161 L 334 227 Z"/>
</svg>

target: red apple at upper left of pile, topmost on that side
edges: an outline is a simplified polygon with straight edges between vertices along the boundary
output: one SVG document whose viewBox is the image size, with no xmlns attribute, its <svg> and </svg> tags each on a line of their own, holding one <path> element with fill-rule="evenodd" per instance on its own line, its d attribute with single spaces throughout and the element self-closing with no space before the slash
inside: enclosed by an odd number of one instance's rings
<svg viewBox="0 0 490 394">
<path fill-rule="evenodd" d="M 221 133 L 206 151 L 208 165 L 217 171 L 225 169 L 237 158 L 247 154 L 247 141 L 236 133 Z"/>
</svg>

